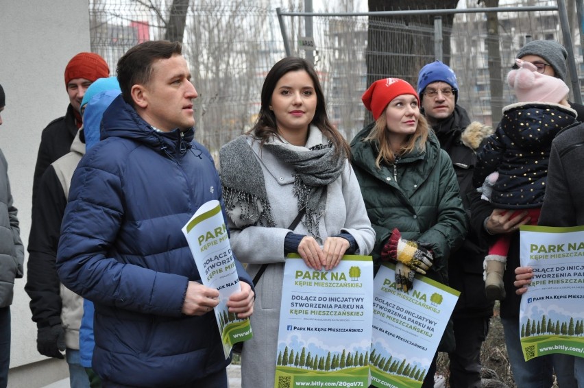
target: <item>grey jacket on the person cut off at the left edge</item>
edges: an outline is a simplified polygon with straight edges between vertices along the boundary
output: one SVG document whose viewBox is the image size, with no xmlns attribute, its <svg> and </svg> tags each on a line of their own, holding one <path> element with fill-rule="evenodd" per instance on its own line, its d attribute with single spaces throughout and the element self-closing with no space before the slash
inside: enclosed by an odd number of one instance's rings
<svg viewBox="0 0 584 388">
<path fill-rule="evenodd" d="M 23 277 L 24 247 L 17 213 L 8 182 L 8 163 L 0 151 L 0 307 L 12 304 L 14 279 Z"/>
</svg>

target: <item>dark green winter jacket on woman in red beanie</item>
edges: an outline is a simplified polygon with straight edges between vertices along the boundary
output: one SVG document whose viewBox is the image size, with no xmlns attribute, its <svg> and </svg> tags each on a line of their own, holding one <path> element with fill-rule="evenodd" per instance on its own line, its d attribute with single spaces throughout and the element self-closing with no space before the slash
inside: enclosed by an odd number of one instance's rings
<svg viewBox="0 0 584 388">
<path fill-rule="evenodd" d="M 428 277 L 448 284 L 448 256 L 461 245 L 468 223 L 450 157 L 430 133 L 425 151 L 413 151 L 395 165 L 378 169 L 377 145 L 363 141 L 372 128 L 373 124 L 367 125 L 355 136 L 351 152 L 367 215 L 376 232 L 374 262 L 379 264 L 383 245 L 393 228 L 398 228 L 402 238 L 433 251 L 434 265 Z"/>
</svg>

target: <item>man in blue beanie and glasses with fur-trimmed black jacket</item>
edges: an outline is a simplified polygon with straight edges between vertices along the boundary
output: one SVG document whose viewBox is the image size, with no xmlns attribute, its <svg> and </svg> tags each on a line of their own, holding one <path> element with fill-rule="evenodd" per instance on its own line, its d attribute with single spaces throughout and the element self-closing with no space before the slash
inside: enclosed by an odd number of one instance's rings
<svg viewBox="0 0 584 388">
<path fill-rule="evenodd" d="M 472 173 L 476 149 L 493 132 L 480 123 L 471 123 L 464 108 L 457 105 L 457 76 L 440 61 L 426 64 L 417 80 L 422 112 L 432 126 L 440 146 L 452 159 L 460 186 L 463 205 L 470 215 L 468 191 L 473 191 Z M 450 287 L 461 291 L 452 314 L 456 348 L 449 352 L 450 387 L 480 388 L 480 347 L 487 337 L 493 302 L 485 295 L 483 260 L 485 243 L 469 230 L 463 246 L 450 255 L 448 278 Z"/>
</svg>

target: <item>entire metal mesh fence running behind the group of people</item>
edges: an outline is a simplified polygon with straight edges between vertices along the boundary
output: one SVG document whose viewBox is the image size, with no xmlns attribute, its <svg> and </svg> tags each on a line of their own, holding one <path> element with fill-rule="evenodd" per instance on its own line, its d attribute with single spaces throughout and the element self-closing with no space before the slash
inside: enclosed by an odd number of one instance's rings
<svg viewBox="0 0 584 388">
<path fill-rule="evenodd" d="M 144 40 L 165 38 L 170 16 L 175 12 L 171 3 L 171 0 L 90 0 L 92 51 L 103 56 L 110 69 L 115 69 L 117 60 L 130 47 Z M 183 3 L 186 4 L 184 54 L 199 93 L 195 99 L 197 138 L 211 151 L 217 151 L 254 123 L 263 79 L 271 66 L 285 56 L 283 39 L 275 6 L 269 1 Z M 528 5 L 548 3 L 530 0 Z M 500 63 L 502 70 L 495 76 L 504 81 L 515 53 L 529 36 L 562 43 L 555 11 L 500 12 L 498 19 L 500 58 L 488 56 L 487 45 L 492 36 L 488 34 L 484 13 L 457 14 L 452 27 L 444 28 L 450 36 L 450 53 L 445 53 L 443 59 L 457 73 L 459 104 L 467 108 L 473 119 L 487 124 L 491 124 L 489 84 L 494 77 L 489 74 L 489 63 L 493 60 Z M 315 66 L 329 115 L 349 140 L 363 127 L 365 117 L 361 95 L 367 86 L 366 54 L 389 61 L 393 68 L 400 69 L 396 73 L 380 74 L 379 78 L 401 77 L 413 84 L 419 68 L 435 59 L 433 50 L 427 49 L 433 47 L 434 29 L 411 18 L 407 23 L 395 18 L 369 23 L 367 16 L 313 16 L 312 20 Z M 297 43 L 304 35 L 304 17 L 284 17 L 284 25 L 292 55 L 306 56 Z M 400 49 L 367 52 L 368 29 L 375 29 L 377 39 L 390 40 L 400 45 Z M 422 54 L 417 47 L 421 41 L 426 46 Z M 581 66 L 581 57 L 576 59 Z M 498 103 L 504 106 L 512 101 L 506 88 Z"/>
</svg>

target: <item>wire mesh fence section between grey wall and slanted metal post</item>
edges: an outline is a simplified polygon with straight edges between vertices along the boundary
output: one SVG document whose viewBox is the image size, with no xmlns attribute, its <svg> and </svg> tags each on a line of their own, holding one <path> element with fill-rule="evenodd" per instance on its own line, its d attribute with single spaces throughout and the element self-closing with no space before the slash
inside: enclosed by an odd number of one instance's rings
<svg viewBox="0 0 584 388">
<path fill-rule="evenodd" d="M 253 3 L 197 1 L 186 11 L 183 53 L 199 93 L 197 138 L 211 150 L 250 128 L 263 78 L 284 57 L 275 11 Z M 114 69 L 130 47 L 165 38 L 169 16 L 165 1 L 90 1 L 91 49 Z"/>
</svg>

